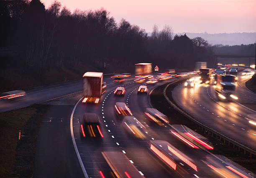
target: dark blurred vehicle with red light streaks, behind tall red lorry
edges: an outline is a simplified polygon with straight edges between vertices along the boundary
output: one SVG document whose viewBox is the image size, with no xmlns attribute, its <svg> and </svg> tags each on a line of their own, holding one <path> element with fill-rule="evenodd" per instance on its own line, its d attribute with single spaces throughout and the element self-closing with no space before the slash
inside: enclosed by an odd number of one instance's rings
<svg viewBox="0 0 256 178">
<path fill-rule="evenodd" d="M 100 119 L 95 113 L 84 113 L 80 119 L 80 134 L 82 138 L 103 138 L 100 130 Z"/>
</svg>

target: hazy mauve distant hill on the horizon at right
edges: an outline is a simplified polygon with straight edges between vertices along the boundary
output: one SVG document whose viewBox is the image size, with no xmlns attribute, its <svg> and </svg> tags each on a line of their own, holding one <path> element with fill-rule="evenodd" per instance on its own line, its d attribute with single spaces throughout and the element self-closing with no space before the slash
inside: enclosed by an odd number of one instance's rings
<svg viewBox="0 0 256 178">
<path fill-rule="evenodd" d="M 253 44 L 256 40 L 256 32 L 254 33 L 215 33 L 209 34 L 205 33 L 189 33 L 183 32 L 178 33 L 178 35 L 183 35 L 184 33 L 187 34 L 189 38 L 195 38 L 200 36 L 207 40 L 210 44 L 223 44 L 223 45 L 241 45 L 241 44 Z"/>
</svg>

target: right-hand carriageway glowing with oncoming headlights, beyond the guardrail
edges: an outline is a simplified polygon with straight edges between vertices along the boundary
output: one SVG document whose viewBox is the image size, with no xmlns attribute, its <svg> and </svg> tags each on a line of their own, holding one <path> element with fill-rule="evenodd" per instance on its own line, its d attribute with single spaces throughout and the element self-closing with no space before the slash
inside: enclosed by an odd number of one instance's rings
<svg viewBox="0 0 256 178">
<path fill-rule="evenodd" d="M 256 114 L 256 94 L 245 87 L 249 76 L 238 76 L 235 89 L 236 101 L 219 101 L 213 85 L 197 84 L 185 88 L 184 84 L 174 88 L 174 102 L 200 123 L 256 150 L 256 128 L 248 122 Z"/>
</svg>

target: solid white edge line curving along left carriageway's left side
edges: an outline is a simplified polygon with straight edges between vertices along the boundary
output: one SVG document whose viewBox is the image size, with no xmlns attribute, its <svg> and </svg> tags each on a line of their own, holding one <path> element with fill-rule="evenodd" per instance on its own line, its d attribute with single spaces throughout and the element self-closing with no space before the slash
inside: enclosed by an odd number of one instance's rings
<svg viewBox="0 0 256 178">
<path fill-rule="evenodd" d="M 74 111 L 75 111 L 75 109 L 76 109 L 76 107 L 77 107 L 77 104 L 78 104 L 82 99 L 83 99 L 83 97 L 80 98 L 80 99 L 77 101 L 77 103 L 75 104 L 75 106 L 74 106 L 74 108 L 73 108 L 73 110 L 72 110 L 72 113 L 71 113 L 71 116 L 70 116 L 70 133 L 71 133 L 71 137 L 72 137 L 74 149 L 75 149 L 75 151 L 76 151 L 76 153 L 77 153 L 78 161 L 79 161 L 79 163 L 80 163 L 80 165 L 81 165 L 81 168 L 82 168 L 82 171 L 83 171 L 83 173 L 84 173 L 84 177 L 85 177 L 85 178 L 89 178 L 89 176 L 88 176 L 88 174 L 87 174 L 87 172 L 86 172 L 86 170 L 85 170 L 85 168 L 84 168 L 84 163 L 82 162 L 82 159 L 81 159 L 81 157 L 80 157 L 79 151 L 78 151 L 78 149 L 77 149 L 77 144 L 76 144 L 76 141 L 75 141 L 75 139 L 74 139 L 74 132 L 73 132 L 73 115 L 74 115 Z"/>
</svg>

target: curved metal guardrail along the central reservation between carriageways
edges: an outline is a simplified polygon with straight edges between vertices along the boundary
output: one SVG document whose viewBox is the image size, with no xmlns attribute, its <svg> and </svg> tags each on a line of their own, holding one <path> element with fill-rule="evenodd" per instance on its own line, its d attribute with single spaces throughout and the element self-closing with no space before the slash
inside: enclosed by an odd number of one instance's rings
<svg viewBox="0 0 256 178">
<path fill-rule="evenodd" d="M 232 143 L 233 145 L 236 145 L 238 147 L 238 150 L 240 150 L 240 148 L 242 148 L 244 150 L 244 153 L 246 154 L 246 151 L 250 153 L 250 156 L 252 157 L 252 154 L 253 155 L 256 155 L 256 150 L 253 150 L 231 138 L 229 138 L 228 136 L 226 135 L 223 135 L 222 133 L 214 130 L 213 128 L 211 127 L 208 127 L 207 125 L 204 125 L 202 124 L 201 122 L 199 122 L 198 120 L 196 120 L 194 117 L 190 116 L 189 114 L 187 114 L 186 112 L 184 112 L 182 109 L 180 109 L 179 107 L 177 107 L 167 96 L 166 96 L 166 89 L 176 83 L 176 82 L 179 82 L 179 81 L 182 81 L 184 79 L 181 79 L 181 80 L 176 80 L 176 81 L 173 81 L 171 83 L 169 83 L 168 85 L 166 85 L 166 87 L 164 88 L 164 97 L 166 99 L 167 102 L 169 102 L 169 104 L 172 105 L 172 107 L 174 107 L 174 109 L 176 109 L 177 111 L 179 111 L 182 115 L 184 115 L 185 117 L 187 117 L 188 119 L 192 120 L 193 122 L 195 122 L 197 125 L 205 128 L 206 130 L 209 130 L 210 132 L 214 133 L 215 135 L 218 135 L 220 138 L 223 138 L 224 142 L 225 141 L 228 141 L 230 143 Z"/>
</svg>

